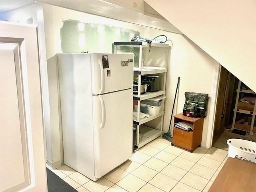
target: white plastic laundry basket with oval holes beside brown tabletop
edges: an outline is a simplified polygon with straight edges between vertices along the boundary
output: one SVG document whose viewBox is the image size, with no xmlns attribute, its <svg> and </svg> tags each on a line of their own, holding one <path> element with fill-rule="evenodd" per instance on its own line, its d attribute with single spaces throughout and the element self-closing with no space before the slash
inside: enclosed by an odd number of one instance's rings
<svg viewBox="0 0 256 192">
<path fill-rule="evenodd" d="M 229 139 L 228 156 L 256 163 L 256 142 L 243 139 Z"/>
</svg>

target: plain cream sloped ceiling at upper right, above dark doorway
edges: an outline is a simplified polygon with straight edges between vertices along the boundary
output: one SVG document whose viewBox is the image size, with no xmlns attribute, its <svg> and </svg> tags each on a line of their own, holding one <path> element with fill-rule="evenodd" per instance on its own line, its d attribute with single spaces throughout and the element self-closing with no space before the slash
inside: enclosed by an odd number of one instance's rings
<svg viewBox="0 0 256 192">
<path fill-rule="evenodd" d="M 256 91 L 255 0 L 145 0 Z"/>
</svg>

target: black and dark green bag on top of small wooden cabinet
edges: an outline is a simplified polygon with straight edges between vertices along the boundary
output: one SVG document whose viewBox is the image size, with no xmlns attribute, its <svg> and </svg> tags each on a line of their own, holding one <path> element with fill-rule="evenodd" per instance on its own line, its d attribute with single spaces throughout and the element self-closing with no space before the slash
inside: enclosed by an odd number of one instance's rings
<svg viewBox="0 0 256 192">
<path fill-rule="evenodd" d="M 186 102 L 197 103 L 197 112 L 194 117 L 206 117 L 209 96 L 204 93 L 185 92 Z M 185 104 L 186 105 L 186 104 Z M 185 107 L 185 106 L 184 106 Z M 183 115 L 184 111 L 183 111 Z"/>
</svg>

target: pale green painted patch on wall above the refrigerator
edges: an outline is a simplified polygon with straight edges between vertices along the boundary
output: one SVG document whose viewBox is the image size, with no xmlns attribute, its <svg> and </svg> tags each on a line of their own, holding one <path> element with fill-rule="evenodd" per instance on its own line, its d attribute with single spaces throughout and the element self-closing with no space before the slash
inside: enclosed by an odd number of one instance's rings
<svg viewBox="0 0 256 192">
<path fill-rule="evenodd" d="M 82 23 L 78 20 L 63 20 L 60 28 L 63 53 L 102 52 L 111 53 L 112 43 L 130 41 L 140 32 L 115 26 Z"/>
</svg>

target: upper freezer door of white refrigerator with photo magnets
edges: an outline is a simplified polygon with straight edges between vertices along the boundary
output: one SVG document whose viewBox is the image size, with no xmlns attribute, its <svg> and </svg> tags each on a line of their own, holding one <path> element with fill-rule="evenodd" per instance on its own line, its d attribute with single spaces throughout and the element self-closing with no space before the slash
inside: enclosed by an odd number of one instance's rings
<svg viewBox="0 0 256 192">
<path fill-rule="evenodd" d="M 132 88 L 133 54 L 92 54 L 92 94 Z"/>
</svg>

